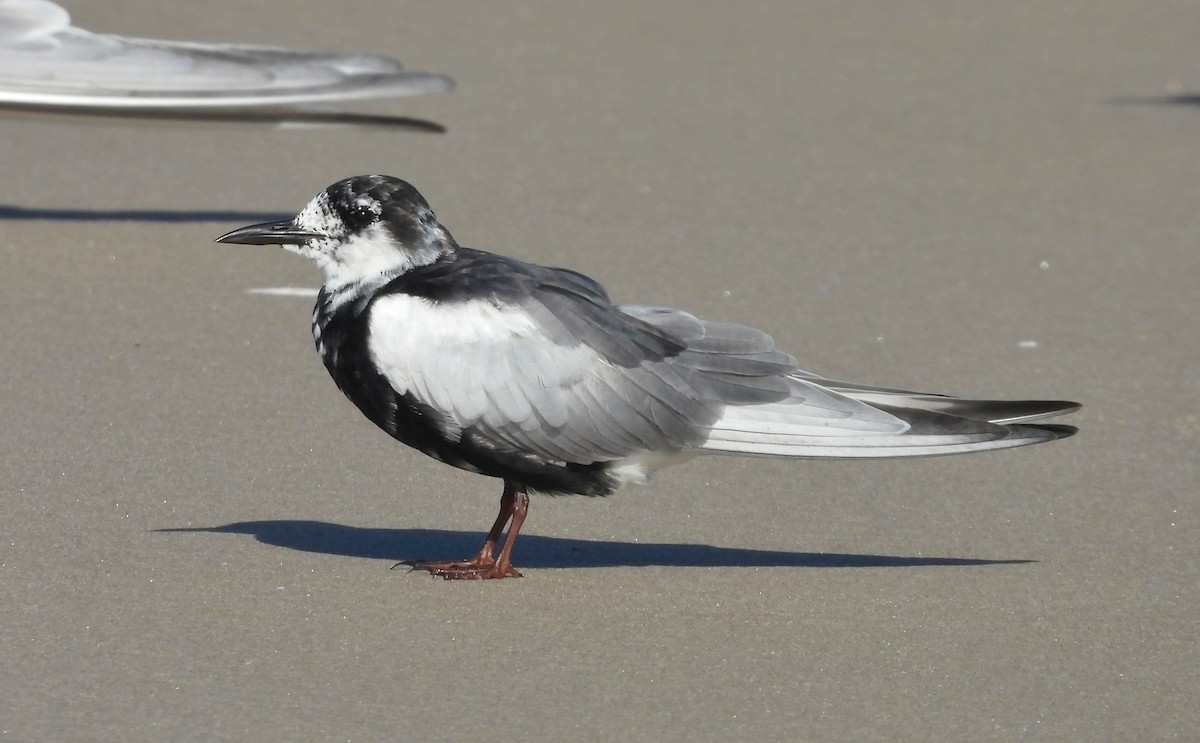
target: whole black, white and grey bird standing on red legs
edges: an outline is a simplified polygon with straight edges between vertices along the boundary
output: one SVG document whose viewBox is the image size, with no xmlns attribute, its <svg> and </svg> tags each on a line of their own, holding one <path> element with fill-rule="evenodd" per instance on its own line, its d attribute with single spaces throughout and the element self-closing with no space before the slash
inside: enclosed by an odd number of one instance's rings
<svg viewBox="0 0 1200 743">
<path fill-rule="evenodd" d="M 409 447 L 504 480 L 474 558 L 412 563 L 445 579 L 521 575 L 530 490 L 605 496 L 698 454 L 926 456 L 1075 433 L 1028 423 L 1074 402 L 824 379 L 760 330 L 614 305 L 582 274 L 460 247 L 416 188 L 385 175 L 338 181 L 294 218 L 217 242 L 316 263 L 312 332 L 337 387 Z"/>
</svg>

